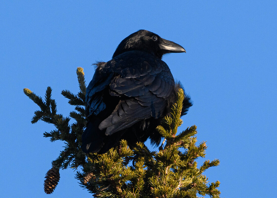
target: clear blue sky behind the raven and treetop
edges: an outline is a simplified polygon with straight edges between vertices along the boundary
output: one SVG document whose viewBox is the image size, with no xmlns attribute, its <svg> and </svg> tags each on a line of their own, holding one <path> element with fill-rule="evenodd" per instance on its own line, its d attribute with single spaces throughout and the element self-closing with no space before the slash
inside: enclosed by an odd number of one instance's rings
<svg viewBox="0 0 277 198">
<path fill-rule="evenodd" d="M 222 197 L 274 197 L 276 23 L 276 1 L 2 1 L 0 194 L 91 197 L 71 169 L 44 193 L 63 143 L 43 137 L 52 125 L 30 123 L 38 107 L 23 88 L 44 96 L 51 86 L 67 116 L 73 108 L 60 92 L 78 92 L 76 68 L 89 83 L 91 64 L 110 60 L 123 38 L 146 29 L 186 49 L 163 60 L 194 102 L 179 130 L 197 125 L 206 159 L 221 162 L 206 171 L 209 181 L 221 182 Z"/>
</svg>

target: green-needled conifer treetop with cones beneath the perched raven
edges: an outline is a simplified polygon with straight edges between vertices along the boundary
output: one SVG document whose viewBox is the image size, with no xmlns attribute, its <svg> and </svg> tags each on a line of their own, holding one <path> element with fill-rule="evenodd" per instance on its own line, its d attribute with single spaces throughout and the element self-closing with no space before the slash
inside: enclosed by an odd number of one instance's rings
<svg viewBox="0 0 277 198">
<path fill-rule="evenodd" d="M 42 97 L 24 88 L 24 93 L 40 107 L 40 110 L 35 111 L 31 122 L 34 124 L 42 120 L 54 124 L 57 129 L 43 133 L 44 137 L 50 137 L 51 142 L 62 140 L 66 145 L 58 158 L 52 161 L 52 168 L 45 177 L 47 194 L 55 189 L 60 168 L 81 167 L 82 171 L 77 171 L 76 178 L 94 197 L 178 198 L 197 197 L 197 193 L 201 196 L 219 197 L 220 191 L 217 187 L 220 182 L 208 184 L 208 178 L 203 175 L 207 168 L 218 166 L 219 160 L 206 160 L 199 167 L 195 161 L 198 157 L 204 158 L 207 149 L 206 142 L 196 145 L 196 126 L 176 135 L 177 128 L 182 124 L 182 89 L 179 89 L 178 100 L 171 108 L 171 115 L 166 116 L 163 124 L 156 129 L 166 140 L 165 145 L 159 147 L 159 151 L 149 151 L 144 143 L 137 143 L 131 150 L 127 142 L 122 140 L 119 146 L 111 148 L 105 154 L 85 154 L 81 150 L 81 135 L 86 127 L 86 84 L 83 68 L 78 67 L 76 73 L 79 82 L 78 94 L 68 90 L 61 92 L 69 99 L 68 103 L 75 106 L 75 111 L 71 111 L 69 117 L 57 114 L 57 105 L 51 98 L 50 87 L 46 90 L 44 101 Z M 70 119 L 75 122 L 69 124 Z"/>
</svg>

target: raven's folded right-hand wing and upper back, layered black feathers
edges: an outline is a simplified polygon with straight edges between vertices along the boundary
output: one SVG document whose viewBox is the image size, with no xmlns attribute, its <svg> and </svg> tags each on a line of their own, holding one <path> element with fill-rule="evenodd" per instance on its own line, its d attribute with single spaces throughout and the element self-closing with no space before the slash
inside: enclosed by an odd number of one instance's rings
<svg viewBox="0 0 277 198">
<path fill-rule="evenodd" d="M 106 128 L 106 135 L 140 120 L 164 115 L 166 99 L 175 86 L 165 62 L 147 53 L 125 52 L 107 62 L 107 68 L 115 73 L 109 85 L 110 94 L 119 96 L 120 101 L 112 114 L 99 125 L 100 130 Z"/>
</svg>

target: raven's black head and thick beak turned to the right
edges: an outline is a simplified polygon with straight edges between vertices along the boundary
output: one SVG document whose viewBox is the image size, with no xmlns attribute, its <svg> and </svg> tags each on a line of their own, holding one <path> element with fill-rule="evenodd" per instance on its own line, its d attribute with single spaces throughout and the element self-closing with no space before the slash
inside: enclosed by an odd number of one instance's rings
<svg viewBox="0 0 277 198">
<path fill-rule="evenodd" d="M 153 32 L 139 30 L 130 34 L 120 42 L 112 58 L 132 50 L 148 52 L 157 58 L 161 58 L 166 53 L 186 52 L 186 50 L 177 43 L 165 40 Z"/>
</svg>

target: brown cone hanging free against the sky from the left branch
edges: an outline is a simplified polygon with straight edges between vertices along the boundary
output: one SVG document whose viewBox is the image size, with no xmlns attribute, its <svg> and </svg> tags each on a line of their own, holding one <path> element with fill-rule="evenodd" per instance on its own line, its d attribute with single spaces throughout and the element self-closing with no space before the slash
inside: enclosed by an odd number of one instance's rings
<svg viewBox="0 0 277 198">
<path fill-rule="evenodd" d="M 47 173 L 46 173 L 46 176 L 45 176 L 45 180 L 44 180 L 44 192 L 46 194 L 51 194 L 59 180 L 60 180 L 60 172 L 59 172 L 59 168 L 55 168 L 55 167 L 52 167 Z"/>
</svg>

